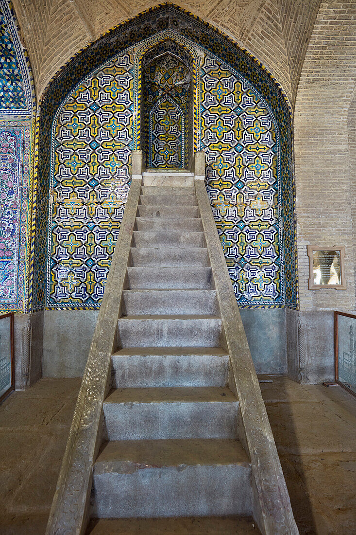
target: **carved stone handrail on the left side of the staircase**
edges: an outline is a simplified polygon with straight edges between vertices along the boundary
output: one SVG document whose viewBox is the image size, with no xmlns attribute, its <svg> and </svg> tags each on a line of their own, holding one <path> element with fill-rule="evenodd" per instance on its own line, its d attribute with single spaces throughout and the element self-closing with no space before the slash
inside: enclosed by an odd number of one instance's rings
<svg viewBox="0 0 356 535">
<path fill-rule="evenodd" d="M 92 467 L 102 439 L 102 406 L 110 389 L 111 355 L 141 191 L 142 179 L 138 172 L 141 152 L 140 155 L 134 154 L 134 158 L 137 161 L 133 162 L 133 179 L 91 340 L 46 535 L 80 535 L 86 530 Z"/>
</svg>

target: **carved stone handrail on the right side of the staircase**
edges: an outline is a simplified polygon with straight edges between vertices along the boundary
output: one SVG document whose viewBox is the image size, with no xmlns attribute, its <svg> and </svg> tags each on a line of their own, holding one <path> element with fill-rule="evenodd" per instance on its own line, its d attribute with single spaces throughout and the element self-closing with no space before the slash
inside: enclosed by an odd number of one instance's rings
<svg viewBox="0 0 356 535">
<path fill-rule="evenodd" d="M 240 427 L 242 429 L 239 432 L 243 434 L 241 440 L 250 455 L 253 517 L 264 534 L 297 535 L 298 528 L 293 516 L 266 407 L 262 400 L 234 288 L 216 231 L 204 180 L 200 179 L 203 175 L 201 167 L 202 156 L 200 155 L 199 165 L 196 165 L 195 170 L 195 189 L 225 334 L 224 345 L 230 354 L 233 374 L 233 385 L 231 386 L 236 391 L 241 411 Z"/>
</svg>

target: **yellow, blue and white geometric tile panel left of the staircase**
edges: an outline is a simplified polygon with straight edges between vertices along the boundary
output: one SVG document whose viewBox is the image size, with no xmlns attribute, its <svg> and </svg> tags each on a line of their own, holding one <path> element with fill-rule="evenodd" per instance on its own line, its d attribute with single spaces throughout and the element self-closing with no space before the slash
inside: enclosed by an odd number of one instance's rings
<svg viewBox="0 0 356 535">
<path fill-rule="evenodd" d="M 129 189 L 133 63 L 129 53 L 82 81 L 53 130 L 48 307 L 97 308 Z"/>
</svg>

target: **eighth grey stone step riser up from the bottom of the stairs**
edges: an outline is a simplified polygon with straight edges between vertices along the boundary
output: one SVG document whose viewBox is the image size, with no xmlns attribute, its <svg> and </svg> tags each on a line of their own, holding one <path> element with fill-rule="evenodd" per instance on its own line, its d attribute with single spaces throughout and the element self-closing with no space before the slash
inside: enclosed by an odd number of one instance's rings
<svg viewBox="0 0 356 535">
<path fill-rule="evenodd" d="M 204 232 L 134 231 L 135 247 L 205 247 Z"/>
</svg>

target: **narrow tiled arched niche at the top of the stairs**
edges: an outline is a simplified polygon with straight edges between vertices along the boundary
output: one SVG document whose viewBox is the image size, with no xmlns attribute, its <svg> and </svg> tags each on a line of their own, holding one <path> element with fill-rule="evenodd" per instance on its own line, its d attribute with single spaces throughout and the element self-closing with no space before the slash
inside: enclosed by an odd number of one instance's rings
<svg viewBox="0 0 356 535">
<path fill-rule="evenodd" d="M 197 93 L 194 63 L 194 56 L 187 47 L 171 39 L 144 53 L 141 60 L 140 148 L 146 167 L 183 169 L 189 165 L 194 150 L 194 97 Z M 166 111 L 158 111 L 159 102 L 167 108 Z M 159 133 L 152 129 L 157 113 L 162 117 L 169 116 L 169 125 L 161 120 L 160 126 L 156 124 L 161 130 Z M 159 157 L 156 149 L 164 151 L 165 155 L 162 153 Z M 152 150 L 156 150 L 154 157 Z"/>
</svg>

